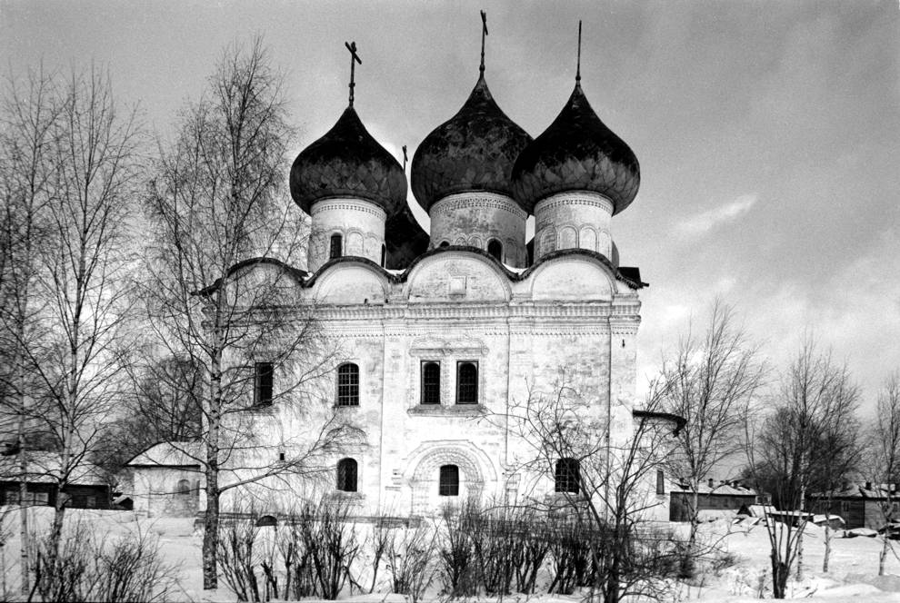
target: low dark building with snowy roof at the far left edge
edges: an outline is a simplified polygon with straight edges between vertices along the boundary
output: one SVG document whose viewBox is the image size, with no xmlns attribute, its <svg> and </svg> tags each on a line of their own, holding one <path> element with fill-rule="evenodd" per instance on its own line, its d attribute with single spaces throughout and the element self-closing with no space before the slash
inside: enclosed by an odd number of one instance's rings
<svg viewBox="0 0 900 603">
<path fill-rule="evenodd" d="M 25 473 L 26 505 L 54 507 L 60 492 L 57 477 L 59 455 L 55 452 L 28 453 Z M 17 456 L 0 457 L 0 505 L 16 505 L 21 500 L 21 468 Z M 103 470 L 93 463 L 80 463 L 68 479 L 64 494 L 69 497 L 69 509 L 109 509 L 110 487 Z"/>
</svg>

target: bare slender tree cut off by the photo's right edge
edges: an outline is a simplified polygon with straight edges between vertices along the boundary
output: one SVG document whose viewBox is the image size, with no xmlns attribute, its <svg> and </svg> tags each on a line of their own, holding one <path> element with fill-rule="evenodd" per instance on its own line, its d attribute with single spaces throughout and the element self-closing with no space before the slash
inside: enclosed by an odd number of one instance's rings
<svg viewBox="0 0 900 603">
<path fill-rule="evenodd" d="M 885 525 L 896 519 L 894 507 L 897 502 L 896 485 L 900 483 L 900 371 L 892 374 L 878 394 L 875 421 L 871 426 L 872 440 L 869 442 L 873 478 L 875 483 L 886 484 L 887 499 L 882 504 Z M 882 535 L 882 548 L 878 555 L 878 575 L 885 575 L 885 559 L 891 549 L 890 530 Z"/>
</svg>

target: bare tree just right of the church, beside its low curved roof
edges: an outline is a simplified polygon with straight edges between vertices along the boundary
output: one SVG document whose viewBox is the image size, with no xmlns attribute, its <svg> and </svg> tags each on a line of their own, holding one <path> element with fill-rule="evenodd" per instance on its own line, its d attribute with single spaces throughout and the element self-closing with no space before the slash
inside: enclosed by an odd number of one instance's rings
<svg viewBox="0 0 900 603">
<path fill-rule="evenodd" d="M 746 410 L 764 378 L 759 347 L 735 325 L 732 308 L 719 300 L 713 303 L 705 331 L 696 336 L 689 327 L 674 357 L 664 361 L 662 405 L 685 419 L 665 465 L 690 489 L 687 564 L 694 559 L 700 484 L 723 460 L 743 450 Z M 690 567 L 682 570 L 684 575 L 692 572 Z"/>
</svg>

